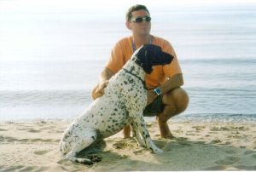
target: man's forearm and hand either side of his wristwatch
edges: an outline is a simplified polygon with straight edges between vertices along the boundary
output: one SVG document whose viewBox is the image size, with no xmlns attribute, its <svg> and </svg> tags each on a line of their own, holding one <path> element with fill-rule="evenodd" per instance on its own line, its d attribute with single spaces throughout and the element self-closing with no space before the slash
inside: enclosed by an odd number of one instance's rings
<svg viewBox="0 0 256 172">
<path fill-rule="evenodd" d="M 176 89 L 178 87 L 181 87 L 183 85 L 183 74 L 178 73 L 172 77 L 169 77 L 169 79 L 159 86 L 159 88 L 162 91 L 162 94 L 165 95 L 167 92 L 170 92 L 172 89 Z M 152 103 L 154 99 L 157 97 L 157 95 L 154 93 L 154 89 L 151 89 L 148 91 L 148 103 Z"/>
</svg>

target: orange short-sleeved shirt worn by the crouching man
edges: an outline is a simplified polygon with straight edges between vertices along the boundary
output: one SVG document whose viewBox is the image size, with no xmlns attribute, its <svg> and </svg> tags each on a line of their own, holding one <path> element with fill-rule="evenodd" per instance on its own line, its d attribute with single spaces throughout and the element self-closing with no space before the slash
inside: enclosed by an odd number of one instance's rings
<svg viewBox="0 0 256 172">
<path fill-rule="evenodd" d="M 131 54 L 133 54 L 132 41 L 132 37 L 125 37 L 116 43 L 112 49 L 111 57 L 105 67 L 113 73 L 119 72 L 125 63 L 130 60 Z M 174 59 L 169 65 L 154 66 L 153 72 L 146 75 L 145 81 L 148 89 L 160 86 L 162 83 L 166 82 L 167 77 L 172 77 L 177 73 L 182 73 L 172 45 L 160 37 L 154 37 L 152 43 L 160 46 L 166 53 L 172 54 Z"/>
</svg>

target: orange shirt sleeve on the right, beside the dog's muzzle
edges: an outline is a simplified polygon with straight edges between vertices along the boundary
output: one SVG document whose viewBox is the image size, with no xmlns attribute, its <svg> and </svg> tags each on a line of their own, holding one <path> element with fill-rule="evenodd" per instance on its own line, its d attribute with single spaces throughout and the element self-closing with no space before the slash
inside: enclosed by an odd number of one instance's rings
<svg viewBox="0 0 256 172">
<path fill-rule="evenodd" d="M 181 67 L 179 66 L 177 55 L 172 48 L 171 43 L 167 42 L 165 43 L 165 46 L 163 47 L 163 51 L 165 51 L 168 54 L 172 54 L 174 56 L 171 64 L 163 66 L 163 71 L 166 77 L 172 77 L 176 74 L 182 73 Z"/>
</svg>

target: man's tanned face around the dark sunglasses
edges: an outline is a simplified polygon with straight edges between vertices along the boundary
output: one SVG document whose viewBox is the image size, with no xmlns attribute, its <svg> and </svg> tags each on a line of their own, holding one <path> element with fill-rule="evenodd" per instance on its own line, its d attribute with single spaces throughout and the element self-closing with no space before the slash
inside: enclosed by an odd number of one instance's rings
<svg viewBox="0 0 256 172">
<path fill-rule="evenodd" d="M 128 21 L 128 28 L 131 29 L 134 34 L 148 35 L 151 30 L 151 21 L 147 21 L 144 19 L 142 22 L 137 22 L 135 20 L 138 17 L 149 17 L 150 15 L 148 14 L 148 12 L 144 9 L 141 9 L 133 11 L 131 15 L 131 21 Z"/>
</svg>

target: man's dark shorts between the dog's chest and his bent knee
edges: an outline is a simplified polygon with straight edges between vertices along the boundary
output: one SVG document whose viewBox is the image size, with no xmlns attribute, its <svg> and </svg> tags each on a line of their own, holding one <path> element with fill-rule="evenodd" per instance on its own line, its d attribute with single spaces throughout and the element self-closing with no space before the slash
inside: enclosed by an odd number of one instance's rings
<svg viewBox="0 0 256 172">
<path fill-rule="evenodd" d="M 165 106 L 163 105 L 163 95 L 158 96 L 151 104 L 146 106 L 143 111 L 144 117 L 154 117 L 164 111 Z"/>
</svg>

